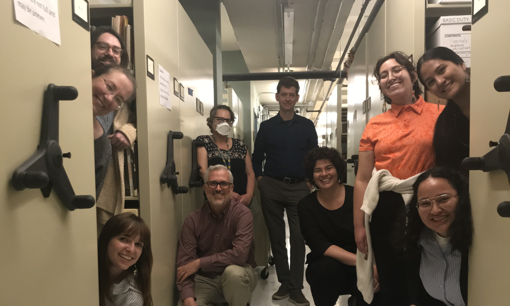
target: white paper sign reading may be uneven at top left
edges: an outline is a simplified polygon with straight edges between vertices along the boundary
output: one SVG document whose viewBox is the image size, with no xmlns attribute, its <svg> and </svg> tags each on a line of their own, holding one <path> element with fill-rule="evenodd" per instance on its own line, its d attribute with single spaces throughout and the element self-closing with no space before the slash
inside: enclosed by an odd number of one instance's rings
<svg viewBox="0 0 510 306">
<path fill-rule="evenodd" d="M 58 0 L 13 0 L 16 20 L 60 44 Z"/>
</svg>

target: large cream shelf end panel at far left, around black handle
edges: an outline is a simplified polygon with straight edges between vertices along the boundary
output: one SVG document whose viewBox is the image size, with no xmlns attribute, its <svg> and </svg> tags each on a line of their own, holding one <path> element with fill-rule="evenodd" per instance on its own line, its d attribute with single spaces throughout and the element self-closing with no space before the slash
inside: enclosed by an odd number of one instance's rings
<svg viewBox="0 0 510 306">
<path fill-rule="evenodd" d="M 34 154 L 49 83 L 78 89 L 60 103 L 64 167 L 77 194 L 95 195 L 89 32 L 59 1 L 62 45 L 14 21 L 12 1 L 0 2 L 0 278 L 2 305 L 97 305 L 95 208 L 69 212 L 52 192 L 15 191 L 11 175 Z"/>
</svg>

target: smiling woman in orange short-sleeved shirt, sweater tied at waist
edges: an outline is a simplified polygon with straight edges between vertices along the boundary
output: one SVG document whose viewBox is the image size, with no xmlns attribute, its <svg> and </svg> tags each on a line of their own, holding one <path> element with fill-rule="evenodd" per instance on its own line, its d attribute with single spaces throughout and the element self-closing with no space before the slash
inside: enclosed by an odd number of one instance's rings
<svg viewBox="0 0 510 306">
<path fill-rule="evenodd" d="M 379 59 L 374 76 L 384 94 L 384 113 L 371 118 L 365 127 L 354 184 L 354 235 L 358 249 L 365 254 L 369 254 L 369 245 L 361 208 L 374 167 L 376 171 L 388 170 L 400 180 L 431 168 L 434 126 L 444 108 L 428 104 L 421 97 L 416 68 L 403 53 L 394 52 Z M 388 111 L 386 104 L 392 106 Z M 370 223 L 379 296 L 384 304 L 392 306 L 410 305 L 404 268 L 391 242 L 396 217 L 404 205 L 399 193 L 379 192 Z"/>
</svg>

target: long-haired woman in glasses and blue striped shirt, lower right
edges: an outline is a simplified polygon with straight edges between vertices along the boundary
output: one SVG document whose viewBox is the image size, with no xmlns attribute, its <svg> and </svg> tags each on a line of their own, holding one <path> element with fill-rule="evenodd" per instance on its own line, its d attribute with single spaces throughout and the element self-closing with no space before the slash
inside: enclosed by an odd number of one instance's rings
<svg viewBox="0 0 510 306">
<path fill-rule="evenodd" d="M 395 245 L 409 262 L 411 303 L 466 306 L 473 221 L 468 184 L 455 170 L 432 168 L 413 186 Z"/>
</svg>

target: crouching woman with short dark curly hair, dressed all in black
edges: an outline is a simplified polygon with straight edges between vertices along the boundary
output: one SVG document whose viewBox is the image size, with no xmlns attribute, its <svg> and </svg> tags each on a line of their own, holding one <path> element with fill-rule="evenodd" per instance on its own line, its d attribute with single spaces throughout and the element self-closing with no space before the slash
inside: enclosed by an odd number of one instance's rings
<svg viewBox="0 0 510 306">
<path fill-rule="evenodd" d="M 344 161 L 334 148 L 315 148 L 304 157 L 304 171 L 307 181 L 318 189 L 297 204 L 301 234 L 312 250 L 306 276 L 315 305 L 335 305 L 344 294 L 351 295 L 348 305 L 368 305 L 356 288 L 353 187 L 340 179 L 345 174 Z M 377 291 L 377 273 L 373 284 Z M 370 305 L 380 305 L 377 294 Z"/>
</svg>

